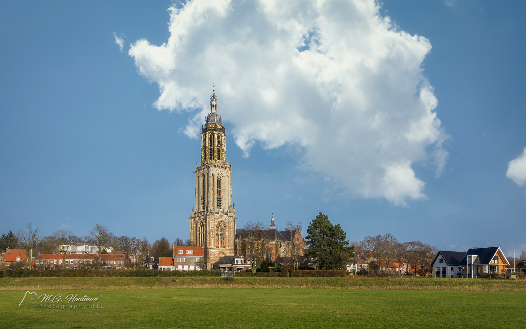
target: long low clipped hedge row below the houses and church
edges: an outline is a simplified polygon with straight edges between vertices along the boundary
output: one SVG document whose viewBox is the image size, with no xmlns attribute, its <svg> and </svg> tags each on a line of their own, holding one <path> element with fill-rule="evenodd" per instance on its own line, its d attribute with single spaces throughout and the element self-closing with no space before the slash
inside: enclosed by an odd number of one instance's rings
<svg viewBox="0 0 526 329">
<path fill-rule="evenodd" d="M 236 272 L 236 276 L 258 276 L 258 277 L 343 277 L 345 271 L 296 271 L 291 267 L 282 268 L 281 272 Z M 5 270 L 5 277 L 100 277 L 100 276 L 220 276 L 219 270 L 203 271 L 160 271 L 157 270 Z"/>
</svg>

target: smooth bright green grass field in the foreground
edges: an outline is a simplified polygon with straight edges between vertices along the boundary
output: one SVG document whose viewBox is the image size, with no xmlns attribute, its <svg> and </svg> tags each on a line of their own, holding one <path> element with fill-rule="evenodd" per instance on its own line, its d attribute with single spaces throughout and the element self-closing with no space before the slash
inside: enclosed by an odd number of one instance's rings
<svg viewBox="0 0 526 329">
<path fill-rule="evenodd" d="M 5 328 L 523 328 L 526 293 L 505 291 L 158 288 L 39 290 L 100 298 L 38 308 L 0 291 Z M 443 324 L 443 325 L 442 325 Z"/>
</svg>

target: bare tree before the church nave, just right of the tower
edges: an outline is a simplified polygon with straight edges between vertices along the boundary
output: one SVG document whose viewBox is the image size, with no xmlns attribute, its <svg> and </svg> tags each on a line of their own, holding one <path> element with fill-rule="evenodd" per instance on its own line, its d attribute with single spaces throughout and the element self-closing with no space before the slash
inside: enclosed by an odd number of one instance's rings
<svg viewBox="0 0 526 329">
<path fill-rule="evenodd" d="M 259 264 L 264 260 L 268 249 L 265 225 L 261 222 L 248 222 L 240 234 L 241 251 L 245 252 L 250 261 L 252 273 L 256 273 Z"/>
</svg>

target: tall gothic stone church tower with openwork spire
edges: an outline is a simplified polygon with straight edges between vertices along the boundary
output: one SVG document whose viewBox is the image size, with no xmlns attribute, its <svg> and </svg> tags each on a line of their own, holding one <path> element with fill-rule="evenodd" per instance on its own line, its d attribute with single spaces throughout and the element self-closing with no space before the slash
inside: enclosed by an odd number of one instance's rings
<svg viewBox="0 0 526 329">
<path fill-rule="evenodd" d="M 210 113 L 201 128 L 201 162 L 196 165 L 195 202 L 190 216 L 190 240 L 205 248 L 211 268 L 222 256 L 234 256 L 236 210 L 232 204 L 231 166 L 226 161 L 226 135 L 217 114 L 215 88 Z"/>
</svg>

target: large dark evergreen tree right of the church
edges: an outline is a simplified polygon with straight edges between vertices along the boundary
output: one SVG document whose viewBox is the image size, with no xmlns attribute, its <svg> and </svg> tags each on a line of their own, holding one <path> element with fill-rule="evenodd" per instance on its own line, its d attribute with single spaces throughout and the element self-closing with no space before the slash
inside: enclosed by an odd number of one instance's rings
<svg viewBox="0 0 526 329">
<path fill-rule="evenodd" d="M 320 270 L 342 268 L 354 256 L 354 247 L 349 246 L 346 238 L 340 224 L 332 224 L 327 215 L 319 213 L 307 228 L 306 256 L 316 258 Z"/>
</svg>

